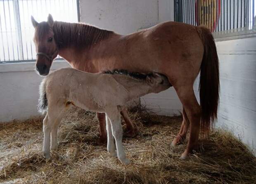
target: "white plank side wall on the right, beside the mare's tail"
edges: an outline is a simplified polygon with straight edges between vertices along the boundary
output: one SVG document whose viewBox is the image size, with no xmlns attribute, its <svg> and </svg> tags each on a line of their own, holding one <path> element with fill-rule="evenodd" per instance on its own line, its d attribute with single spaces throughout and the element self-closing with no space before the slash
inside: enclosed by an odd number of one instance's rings
<svg viewBox="0 0 256 184">
<path fill-rule="evenodd" d="M 256 37 L 216 45 L 220 61 L 216 125 L 232 130 L 256 155 Z M 198 97 L 198 80 L 194 89 Z"/>
</svg>

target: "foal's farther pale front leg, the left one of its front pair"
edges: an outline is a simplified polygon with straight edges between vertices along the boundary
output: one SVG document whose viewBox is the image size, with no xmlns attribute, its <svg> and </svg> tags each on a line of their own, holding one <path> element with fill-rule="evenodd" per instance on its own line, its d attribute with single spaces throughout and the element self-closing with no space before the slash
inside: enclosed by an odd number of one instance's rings
<svg viewBox="0 0 256 184">
<path fill-rule="evenodd" d="M 107 129 L 107 151 L 111 156 L 116 157 L 114 137 L 112 134 L 111 123 L 106 114 L 106 129 Z"/>
</svg>

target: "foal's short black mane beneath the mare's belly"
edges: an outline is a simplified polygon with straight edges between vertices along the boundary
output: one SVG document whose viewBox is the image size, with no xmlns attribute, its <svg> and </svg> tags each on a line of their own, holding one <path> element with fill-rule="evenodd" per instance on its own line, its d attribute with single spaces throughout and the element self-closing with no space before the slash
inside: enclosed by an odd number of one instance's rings
<svg viewBox="0 0 256 184">
<path fill-rule="evenodd" d="M 128 75 L 131 78 L 145 80 L 147 76 L 152 76 L 153 73 L 138 73 L 138 72 L 128 72 L 127 70 L 114 69 L 113 71 L 104 71 L 103 73 L 108 73 L 111 75 Z"/>
</svg>

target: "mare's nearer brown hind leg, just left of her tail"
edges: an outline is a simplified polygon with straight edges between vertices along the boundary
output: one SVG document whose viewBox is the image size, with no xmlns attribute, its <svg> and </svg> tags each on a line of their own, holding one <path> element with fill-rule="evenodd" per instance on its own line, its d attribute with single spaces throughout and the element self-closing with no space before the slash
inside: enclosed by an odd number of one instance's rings
<svg viewBox="0 0 256 184">
<path fill-rule="evenodd" d="M 186 150 L 182 153 L 181 159 L 188 158 L 188 154 L 198 147 L 198 137 L 201 119 L 201 107 L 194 95 L 193 85 L 175 86 L 178 97 L 183 104 L 187 118 L 190 122 L 190 135 Z"/>
</svg>

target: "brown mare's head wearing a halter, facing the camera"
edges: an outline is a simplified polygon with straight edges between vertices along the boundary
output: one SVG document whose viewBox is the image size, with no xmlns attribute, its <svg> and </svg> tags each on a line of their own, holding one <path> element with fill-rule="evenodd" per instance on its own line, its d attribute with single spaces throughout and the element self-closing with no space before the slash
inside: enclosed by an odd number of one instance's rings
<svg viewBox="0 0 256 184">
<path fill-rule="evenodd" d="M 58 46 L 54 39 L 52 15 L 49 14 L 47 22 L 38 23 L 31 16 L 35 28 L 33 41 L 36 45 L 36 70 L 40 75 L 48 75 L 53 59 L 58 55 Z"/>
</svg>

